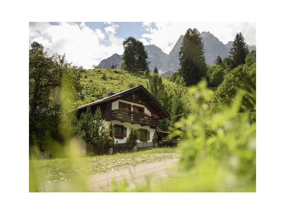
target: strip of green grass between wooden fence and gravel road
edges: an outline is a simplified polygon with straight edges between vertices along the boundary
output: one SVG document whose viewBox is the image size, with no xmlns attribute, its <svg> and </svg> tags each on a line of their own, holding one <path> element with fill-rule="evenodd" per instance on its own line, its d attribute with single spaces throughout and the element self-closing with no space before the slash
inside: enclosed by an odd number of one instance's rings
<svg viewBox="0 0 285 214">
<path fill-rule="evenodd" d="M 77 158 L 76 160 L 69 158 L 30 160 L 29 176 L 30 180 L 41 185 L 180 156 L 181 153 L 175 148 L 158 148 L 136 153 Z"/>
</svg>

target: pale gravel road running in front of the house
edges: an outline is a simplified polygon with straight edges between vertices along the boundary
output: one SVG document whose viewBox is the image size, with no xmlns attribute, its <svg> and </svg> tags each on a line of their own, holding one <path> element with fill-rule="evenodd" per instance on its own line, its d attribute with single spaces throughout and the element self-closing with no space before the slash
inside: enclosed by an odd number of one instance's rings
<svg viewBox="0 0 285 214">
<path fill-rule="evenodd" d="M 104 190 L 110 190 L 111 183 L 114 179 L 116 183 L 124 179 L 131 183 L 142 183 L 145 179 L 145 176 L 148 176 L 151 179 L 159 179 L 160 177 L 165 177 L 166 175 L 174 174 L 177 172 L 178 161 L 179 158 L 156 161 L 153 163 L 147 163 L 143 165 L 129 167 L 126 169 L 119 169 L 102 174 L 90 175 L 82 179 L 72 179 L 51 185 L 43 185 L 42 187 L 40 187 L 40 191 L 102 192 Z"/>
</svg>

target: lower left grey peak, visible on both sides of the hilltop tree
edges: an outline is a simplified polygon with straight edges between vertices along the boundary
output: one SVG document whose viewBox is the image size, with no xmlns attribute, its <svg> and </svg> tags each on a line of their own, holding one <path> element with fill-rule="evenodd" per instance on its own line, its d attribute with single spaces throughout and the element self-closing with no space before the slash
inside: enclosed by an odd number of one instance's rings
<svg viewBox="0 0 285 214">
<path fill-rule="evenodd" d="M 165 64 L 168 54 L 164 53 L 156 45 L 145 45 L 144 48 L 148 54 L 147 61 L 150 62 L 149 69 L 153 71 L 156 66 L 157 69 L 160 70 L 161 67 Z M 116 68 L 119 68 L 122 62 L 122 58 L 123 54 L 113 54 L 107 59 L 102 60 L 99 65 L 102 66 L 102 68 L 107 68 L 108 66 L 111 67 L 112 65 L 115 65 Z"/>
</svg>

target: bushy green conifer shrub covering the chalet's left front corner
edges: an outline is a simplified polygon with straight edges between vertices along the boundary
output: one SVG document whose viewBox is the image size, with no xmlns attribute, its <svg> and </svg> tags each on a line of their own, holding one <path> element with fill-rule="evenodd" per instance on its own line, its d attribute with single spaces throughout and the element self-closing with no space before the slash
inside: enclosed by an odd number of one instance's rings
<svg viewBox="0 0 285 214">
<path fill-rule="evenodd" d="M 74 134 L 89 144 L 95 145 L 107 142 L 109 133 L 104 120 L 101 119 L 100 108 L 97 108 L 93 115 L 88 106 L 86 112 L 82 112 L 80 115 L 79 120 L 74 117 L 72 126 Z"/>
</svg>

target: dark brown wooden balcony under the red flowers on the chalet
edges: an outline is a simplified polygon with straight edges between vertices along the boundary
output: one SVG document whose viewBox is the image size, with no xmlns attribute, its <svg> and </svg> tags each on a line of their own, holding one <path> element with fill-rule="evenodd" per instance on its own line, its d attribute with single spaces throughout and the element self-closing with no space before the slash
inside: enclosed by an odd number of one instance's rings
<svg viewBox="0 0 285 214">
<path fill-rule="evenodd" d="M 141 114 L 120 112 L 118 109 L 112 110 L 112 120 L 119 120 L 121 123 L 130 122 L 131 124 L 141 124 L 141 126 L 150 126 L 156 128 L 158 126 L 158 119 L 142 116 Z"/>
</svg>

